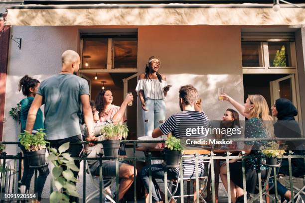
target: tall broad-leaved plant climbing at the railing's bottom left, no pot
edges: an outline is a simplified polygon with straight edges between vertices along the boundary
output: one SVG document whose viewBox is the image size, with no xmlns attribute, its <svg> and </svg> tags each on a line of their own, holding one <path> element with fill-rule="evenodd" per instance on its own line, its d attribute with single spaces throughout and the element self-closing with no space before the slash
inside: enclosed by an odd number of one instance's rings
<svg viewBox="0 0 305 203">
<path fill-rule="evenodd" d="M 69 153 L 70 142 L 62 144 L 58 150 L 49 148 L 50 155 L 48 161 L 54 164 L 52 176 L 54 185 L 58 191 L 53 191 L 50 195 L 50 203 L 69 203 L 69 196 L 79 197 L 76 189 L 78 180 L 74 177 L 72 171 L 79 171 L 74 164 L 74 160 Z"/>
</svg>

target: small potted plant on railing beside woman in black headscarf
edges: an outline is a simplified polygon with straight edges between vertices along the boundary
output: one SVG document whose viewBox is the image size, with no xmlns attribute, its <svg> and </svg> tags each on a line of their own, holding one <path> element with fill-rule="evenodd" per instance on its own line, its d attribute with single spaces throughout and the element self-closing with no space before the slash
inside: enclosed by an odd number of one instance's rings
<svg viewBox="0 0 305 203">
<path fill-rule="evenodd" d="M 266 146 L 261 146 L 261 152 L 266 158 L 266 164 L 277 165 L 278 158 L 280 158 L 285 150 L 280 150 L 280 145 L 276 142 L 270 142 Z"/>
</svg>

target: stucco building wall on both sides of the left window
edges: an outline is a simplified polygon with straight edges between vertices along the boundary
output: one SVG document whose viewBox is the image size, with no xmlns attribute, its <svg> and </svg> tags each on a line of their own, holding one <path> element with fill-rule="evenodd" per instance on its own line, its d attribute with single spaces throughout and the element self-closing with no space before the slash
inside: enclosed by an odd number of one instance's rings
<svg viewBox="0 0 305 203">
<path fill-rule="evenodd" d="M 79 49 L 79 28 L 12 26 L 11 34 L 22 38 L 21 50 L 10 40 L 8 78 L 5 99 L 3 140 L 16 141 L 19 126 L 8 111 L 23 99 L 17 90 L 20 78 L 28 74 L 42 81 L 60 71 L 60 56 L 66 49 Z M 87 28 L 87 27 L 85 27 Z M 93 28 L 93 27 L 88 27 Z M 84 27 L 82 27 L 84 29 Z M 156 55 L 161 59 L 160 72 L 173 85 L 166 98 L 167 114 L 178 112 L 178 89 L 193 84 L 203 99 L 203 108 L 210 119 L 220 119 L 230 105 L 217 100 L 217 88 L 243 102 L 240 28 L 234 26 L 140 26 L 138 28 L 138 67 L 144 72 L 147 59 Z M 138 136 L 143 134 L 142 111 L 138 110 Z M 19 149 L 7 146 L 8 154 Z M 80 180 L 82 178 L 81 166 Z M 43 198 L 50 190 L 50 176 Z M 82 182 L 78 184 L 82 194 Z M 92 185 L 87 178 L 87 191 Z"/>
</svg>

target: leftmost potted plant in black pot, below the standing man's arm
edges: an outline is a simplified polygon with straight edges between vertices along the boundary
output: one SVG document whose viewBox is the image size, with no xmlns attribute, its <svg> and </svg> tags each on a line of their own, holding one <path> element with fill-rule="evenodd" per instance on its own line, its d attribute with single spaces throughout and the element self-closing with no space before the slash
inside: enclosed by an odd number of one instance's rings
<svg viewBox="0 0 305 203">
<path fill-rule="evenodd" d="M 38 129 L 35 134 L 26 131 L 18 135 L 20 144 L 26 150 L 24 156 L 27 157 L 30 167 L 39 168 L 45 165 L 45 150 L 47 141 L 44 140 L 44 129 Z"/>
</svg>

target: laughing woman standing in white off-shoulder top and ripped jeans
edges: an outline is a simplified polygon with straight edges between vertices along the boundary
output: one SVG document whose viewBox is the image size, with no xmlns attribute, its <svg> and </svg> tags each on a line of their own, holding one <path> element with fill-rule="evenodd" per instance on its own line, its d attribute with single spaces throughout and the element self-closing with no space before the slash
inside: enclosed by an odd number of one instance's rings
<svg viewBox="0 0 305 203">
<path fill-rule="evenodd" d="M 143 109 L 145 135 L 152 136 L 154 128 L 159 127 L 165 120 L 165 102 L 169 86 L 165 75 L 159 74 L 160 60 L 152 56 L 145 68 L 145 74 L 139 76 L 136 91 L 140 96 Z"/>
</svg>

